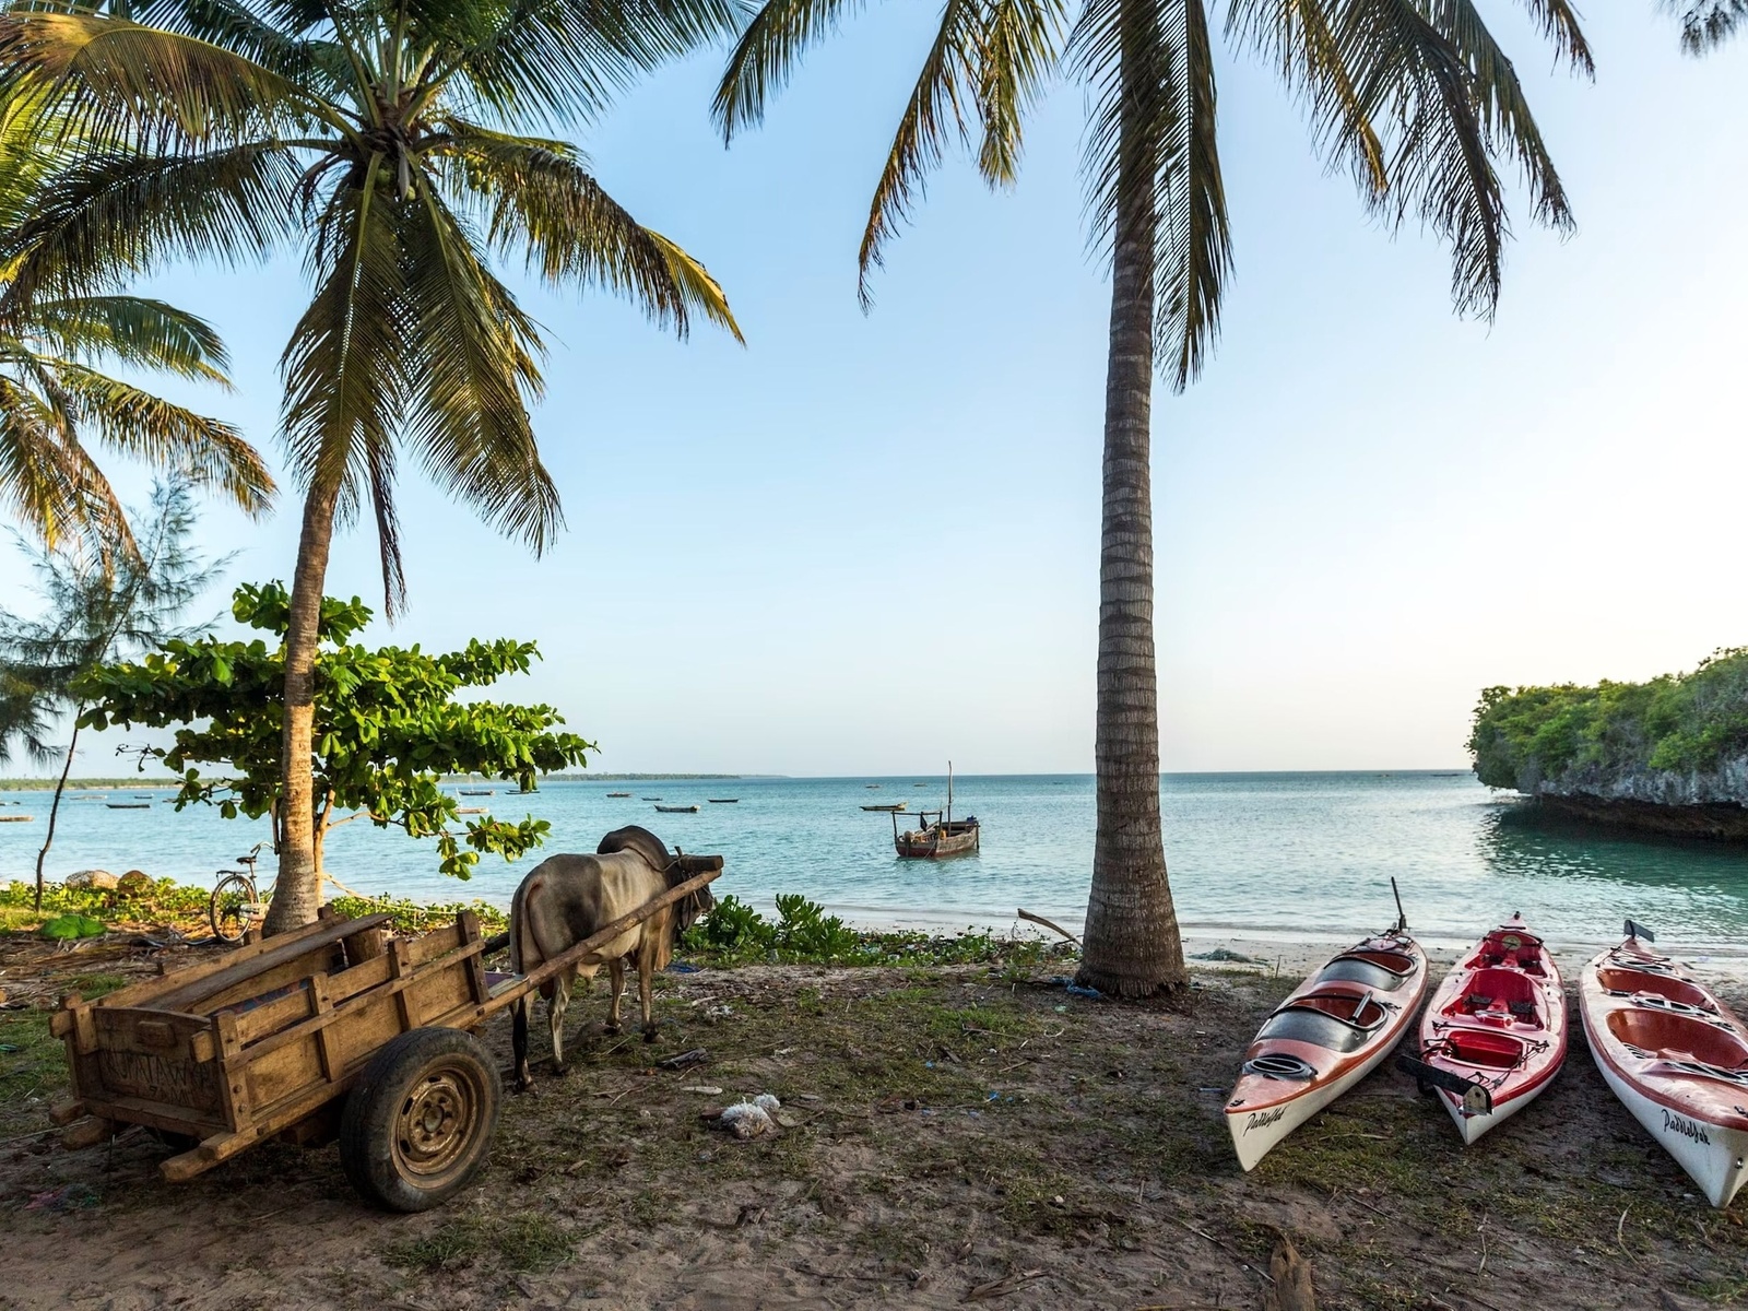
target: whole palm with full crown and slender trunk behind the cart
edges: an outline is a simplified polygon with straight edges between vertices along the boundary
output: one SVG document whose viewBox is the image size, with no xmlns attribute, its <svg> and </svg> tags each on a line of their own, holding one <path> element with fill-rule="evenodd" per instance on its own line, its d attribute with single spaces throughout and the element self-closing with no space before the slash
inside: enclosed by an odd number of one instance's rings
<svg viewBox="0 0 1748 1311">
<path fill-rule="evenodd" d="M 589 122 L 738 19 L 734 0 L 145 0 L 101 17 L 0 16 L 0 79 L 100 143 L 24 225 L 33 253 L 16 288 L 285 241 L 315 285 L 281 357 L 304 517 L 267 932 L 318 904 L 313 678 L 336 523 L 372 516 L 390 615 L 404 456 L 537 554 L 561 526 L 528 416 L 544 343 L 491 255 L 603 285 L 680 334 L 703 315 L 739 336 L 701 264 L 636 224 L 573 145 L 535 135 Z"/>
</svg>

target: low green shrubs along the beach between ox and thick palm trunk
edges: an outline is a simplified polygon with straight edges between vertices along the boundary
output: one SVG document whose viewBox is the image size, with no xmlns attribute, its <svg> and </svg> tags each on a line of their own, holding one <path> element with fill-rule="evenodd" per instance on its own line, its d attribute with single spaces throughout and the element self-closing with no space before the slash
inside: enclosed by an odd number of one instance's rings
<svg viewBox="0 0 1748 1311">
<path fill-rule="evenodd" d="M 953 937 L 928 933 L 865 933 L 799 893 L 776 898 L 776 923 L 729 893 L 680 939 L 687 960 L 704 965 L 1038 965 L 1072 954 L 1066 944 L 1040 939 L 1000 939 L 967 930 Z"/>
</svg>

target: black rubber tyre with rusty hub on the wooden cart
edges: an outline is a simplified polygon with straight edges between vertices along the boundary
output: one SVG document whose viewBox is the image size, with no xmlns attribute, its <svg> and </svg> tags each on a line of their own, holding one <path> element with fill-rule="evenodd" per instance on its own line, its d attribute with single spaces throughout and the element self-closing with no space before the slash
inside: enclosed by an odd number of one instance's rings
<svg viewBox="0 0 1748 1311">
<path fill-rule="evenodd" d="M 346 1098 L 339 1162 L 365 1199 L 425 1211 L 467 1187 L 491 1148 L 503 1099 L 498 1066 L 461 1030 L 388 1042 Z"/>
</svg>

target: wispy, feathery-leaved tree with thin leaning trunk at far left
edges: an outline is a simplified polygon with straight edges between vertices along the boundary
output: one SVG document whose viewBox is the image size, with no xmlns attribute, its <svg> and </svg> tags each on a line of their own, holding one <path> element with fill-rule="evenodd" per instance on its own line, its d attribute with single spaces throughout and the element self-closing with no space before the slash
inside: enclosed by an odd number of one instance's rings
<svg viewBox="0 0 1748 1311">
<path fill-rule="evenodd" d="M 159 482 L 152 510 L 129 526 L 135 551 L 103 552 L 82 538 L 30 551 L 44 610 L 23 619 L 0 610 L 0 760 L 7 739 L 21 741 L 37 764 L 63 757 L 49 804 L 49 830 L 37 851 L 37 909 L 42 909 L 42 865 L 54 844 L 61 794 L 79 748 L 84 697 L 77 690 L 91 671 L 154 650 L 201 631 L 178 626 L 227 559 L 208 565 L 191 549 L 194 500 L 184 481 Z M 51 745 L 52 724 L 70 717 L 65 748 Z"/>
</svg>

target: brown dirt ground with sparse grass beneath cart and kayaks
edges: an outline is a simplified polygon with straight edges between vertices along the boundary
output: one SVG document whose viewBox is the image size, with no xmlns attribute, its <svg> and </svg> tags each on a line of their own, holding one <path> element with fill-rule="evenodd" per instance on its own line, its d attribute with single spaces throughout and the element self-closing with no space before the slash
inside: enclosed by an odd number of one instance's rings
<svg viewBox="0 0 1748 1311">
<path fill-rule="evenodd" d="M 65 1073 L 31 1003 L 150 968 L 0 944 L 26 1005 L 0 1012 L 0 1308 L 1257 1308 L 1278 1234 L 1323 1308 L 1748 1306 L 1748 1201 L 1696 1196 L 1582 1030 L 1474 1148 L 1386 1066 L 1246 1176 L 1220 1106 L 1287 979 L 1210 968 L 1117 1005 L 986 967 L 676 974 L 654 1047 L 600 1033 L 600 991 L 573 1003 L 572 1072 L 505 1099 L 477 1185 L 393 1217 L 334 1148 L 168 1185 L 143 1131 L 84 1152 L 42 1133 Z M 507 1066 L 507 1023 L 486 1038 Z M 652 1068 L 692 1047 L 708 1063 Z M 794 1126 L 701 1122 L 755 1092 Z"/>
</svg>

